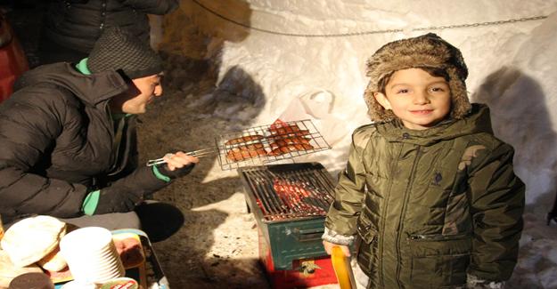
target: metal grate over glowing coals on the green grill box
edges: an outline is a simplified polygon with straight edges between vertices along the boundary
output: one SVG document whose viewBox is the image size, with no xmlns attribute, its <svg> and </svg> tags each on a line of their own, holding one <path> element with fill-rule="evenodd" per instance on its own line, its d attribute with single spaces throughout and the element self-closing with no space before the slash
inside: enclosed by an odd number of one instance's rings
<svg viewBox="0 0 557 289">
<path fill-rule="evenodd" d="M 264 222 L 324 216 L 332 203 L 331 176 L 318 163 L 242 168 L 241 176 Z"/>
</svg>

